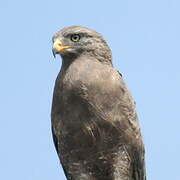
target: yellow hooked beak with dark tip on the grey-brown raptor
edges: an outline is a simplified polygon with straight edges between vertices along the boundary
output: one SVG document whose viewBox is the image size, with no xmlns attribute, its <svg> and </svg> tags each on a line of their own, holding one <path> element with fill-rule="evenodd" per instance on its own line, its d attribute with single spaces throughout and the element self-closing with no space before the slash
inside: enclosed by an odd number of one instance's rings
<svg viewBox="0 0 180 180">
<path fill-rule="evenodd" d="M 56 54 L 63 53 L 66 49 L 72 48 L 71 46 L 65 46 L 59 39 L 56 39 L 53 43 L 52 53 L 54 58 Z"/>
</svg>

